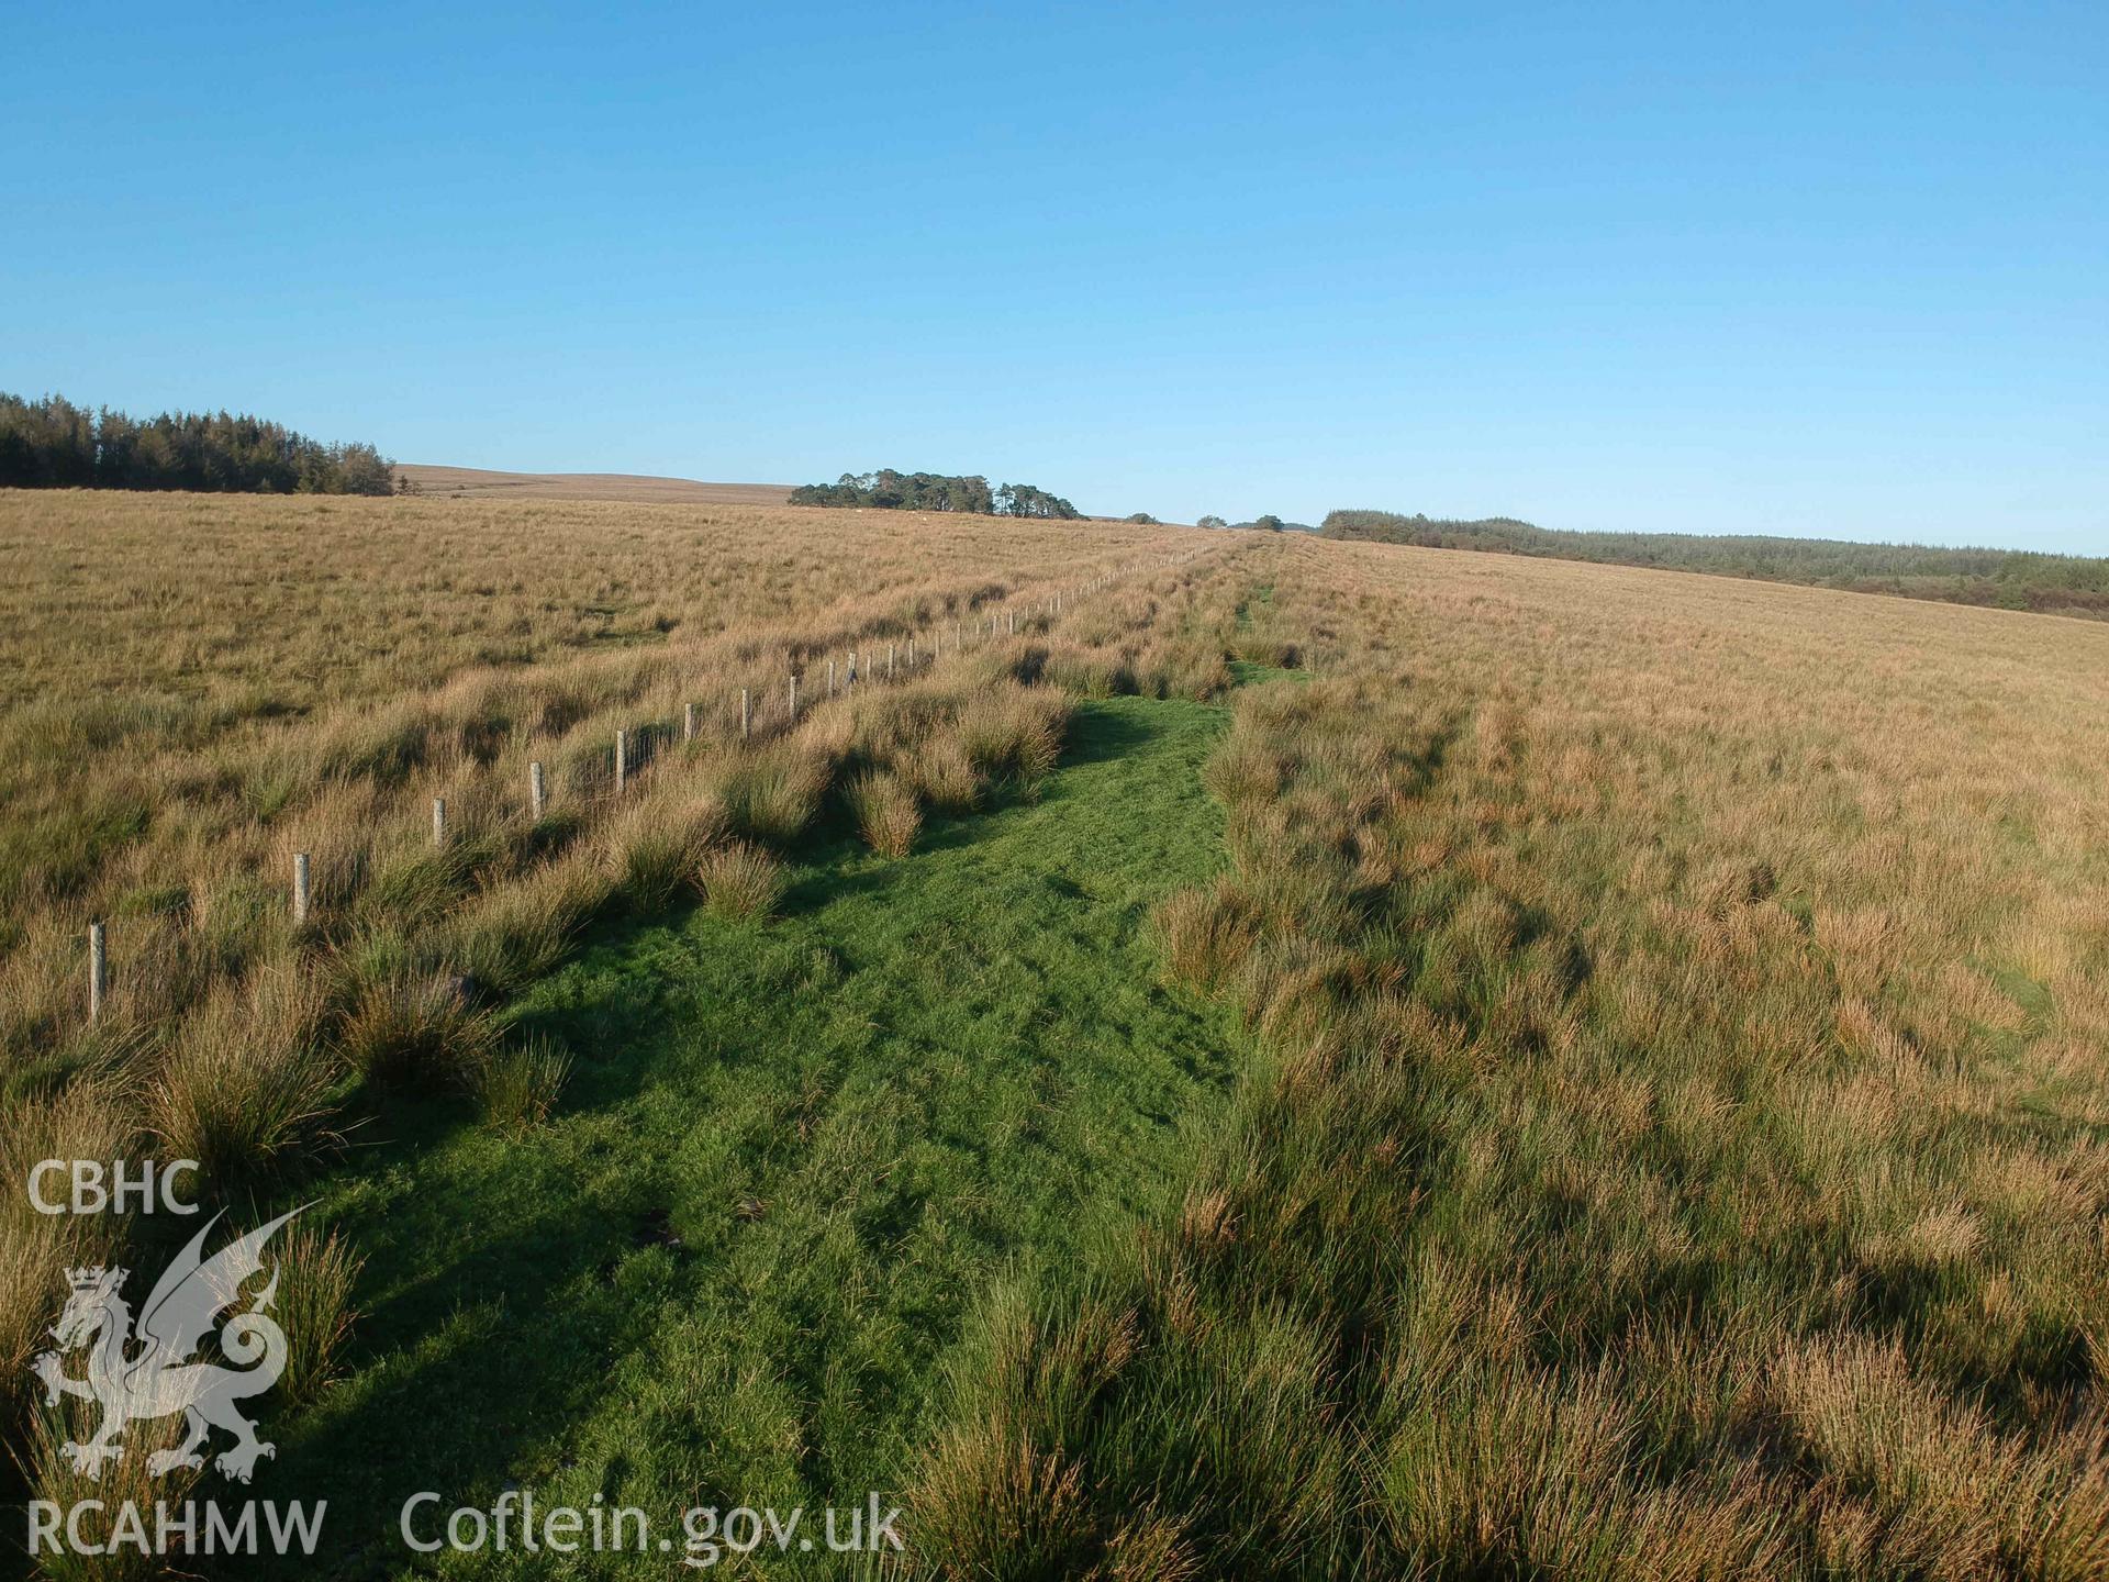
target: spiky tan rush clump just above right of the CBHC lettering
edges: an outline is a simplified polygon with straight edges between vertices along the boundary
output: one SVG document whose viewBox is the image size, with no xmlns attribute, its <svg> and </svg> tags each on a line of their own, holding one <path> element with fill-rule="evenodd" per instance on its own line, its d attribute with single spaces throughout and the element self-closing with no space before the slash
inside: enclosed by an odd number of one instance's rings
<svg viewBox="0 0 2109 1582">
<path fill-rule="evenodd" d="M 146 1088 L 150 1128 L 171 1158 L 213 1181 L 272 1169 L 312 1141 L 337 1065 L 321 1040 L 321 981 L 285 964 L 221 989 L 175 1036 Z"/>
</svg>

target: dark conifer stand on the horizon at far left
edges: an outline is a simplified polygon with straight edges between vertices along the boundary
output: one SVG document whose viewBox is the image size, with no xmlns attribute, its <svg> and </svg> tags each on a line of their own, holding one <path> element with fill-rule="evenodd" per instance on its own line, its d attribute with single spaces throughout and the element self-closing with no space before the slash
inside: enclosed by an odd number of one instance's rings
<svg viewBox="0 0 2109 1582">
<path fill-rule="evenodd" d="M 325 445 L 226 411 L 131 418 L 0 394 L 0 487 L 390 494 L 394 464 L 371 445 Z"/>
</svg>

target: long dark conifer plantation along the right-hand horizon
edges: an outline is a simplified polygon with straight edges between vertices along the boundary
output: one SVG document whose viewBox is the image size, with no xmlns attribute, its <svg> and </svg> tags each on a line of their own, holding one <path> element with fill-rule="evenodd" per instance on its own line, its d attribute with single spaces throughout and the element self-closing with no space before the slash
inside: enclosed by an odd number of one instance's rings
<svg viewBox="0 0 2109 1582">
<path fill-rule="evenodd" d="M 1763 582 L 1805 582 L 1852 593 L 1896 593 L 1911 599 L 2044 610 L 2065 616 L 2109 616 L 2109 559 L 2037 555 L 2010 548 L 1938 548 L 1930 544 L 1852 544 L 1837 538 L 1765 538 L 1706 534 L 1573 534 L 1533 527 L 1514 517 L 1443 521 L 1390 510 L 1335 510 L 1327 538 L 1373 538 L 1426 548 L 1483 548 L 1563 561 L 1653 565 L 1713 572 Z"/>
</svg>

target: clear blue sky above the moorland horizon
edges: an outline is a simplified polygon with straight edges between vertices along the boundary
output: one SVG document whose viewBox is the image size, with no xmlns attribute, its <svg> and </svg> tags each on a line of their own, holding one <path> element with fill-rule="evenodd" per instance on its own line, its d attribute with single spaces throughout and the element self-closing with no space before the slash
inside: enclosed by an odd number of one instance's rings
<svg viewBox="0 0 2109 1582">
<path fill-rule="evenodd" d="M 0 0 L 0 388 L 2109 553 L 2109 6 Z"/>
</svg>

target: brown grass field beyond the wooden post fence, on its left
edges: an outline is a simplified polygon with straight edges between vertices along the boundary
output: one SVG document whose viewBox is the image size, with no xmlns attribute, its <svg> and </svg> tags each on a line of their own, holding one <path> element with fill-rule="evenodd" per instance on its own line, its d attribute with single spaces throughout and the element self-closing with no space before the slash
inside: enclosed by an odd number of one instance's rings
<svg viewBox="0 0 2109 1582">
<path fill-rule="evenodd" d="M 0 702 L 0 1059 L 78 1036 L 91 918 L 110 922 L 129 1027 L 167 1027 L 354 918 L 479 911 L 472 970 L 517 979 L 506 953 L 546 964 L 576 907 L 536 930 L 500 896 L 601 823 L 616 728 L 633 787 L 698 770 L 734 823 L 789 840 L 839 757 L 839 705 L 818 696 L 831 656 L 846 671 L 863 650 L 856 709 L 886 690 L 879 643 L 898 650 L 894 686 L 957 690 L 998 639 L 962 656 L 949 629 L 1175 540 L 901 513 L 0 491 L 0 673 L 34 679 Z M 776 747 L 791 673 L 812 724 Z M 679 740 L 688 705 L 702 759 Z M 540 827 L 529 759 L 550 789 Z M 934 783 L 957 799 L 957 778 Z M 447 852 L 430 850 L 434 797 Z M 624 844 L 616 877 L 660 890 L 669 863 L 645 846 L 633 871 Z M 306 941 L 295 852 L 314 875 Z"/>
</svg>

